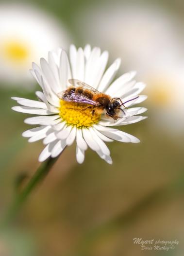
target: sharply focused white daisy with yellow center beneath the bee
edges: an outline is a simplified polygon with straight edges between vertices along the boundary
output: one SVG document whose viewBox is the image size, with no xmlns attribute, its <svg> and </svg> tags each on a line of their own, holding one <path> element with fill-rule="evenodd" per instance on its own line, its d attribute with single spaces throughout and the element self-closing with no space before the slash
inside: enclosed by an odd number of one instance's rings
<svg viewBox="0 0 184 256">
<path fill-rule="evenodd" d="M 112 126 L 127 125 L 146 117 L 140 116 L 147 109 L 132 107 L 123 109 L 121 118 L 114 120 L 105 113 L 92 115 L 86 104 L 66 102 L 58 98 L 58 93 L 68 88 L 69 79 L 78 79 L 98 89 L 100 92 L 118 97 L 126 103 L 126 107 L 143 102 L 147 96 L 139 95 L 144 89 L 143 83 L 136 83 L 133 78 L 135 72 L 121 75 L 114 82 L 113 79 L 120 66 L 120 59 L 106 69 L 108 52 L 100 52 L 100 48 L 91 49 L 90 45 L 76 49 L 70 46 L 69 59 L 64 50 L 58 54 L 49 52 L 48 61 L 40 60 L 40 67 L 33 63 L 31 73 L 41 86 L 42 91 L 36 91 L 40 101 L 23 98 L 12 98 L 21 106 L 12 109 L 18 112 L 34 114 L 36 117 L 25 119 L 25 123 L 38 125 L 25 131 L 23 137 L 29 137 L 29 142 L 43 139 L 46 145 L 39 155 L 39 161 L 48 157 L 58 156 L 66 146 L 76 140 L 76 158 L 78 163 L 83 163 L 84 152 L 87 148 L 96 151 L 107 163 L 112 164 L 110 151 L 104 142 L 117 140 L 120 142 L 139 142 L 139 139 L 128 133 L 119 131 Z M 106 69 L 106 70 L 105 70 Z M 134 100 L 132 100 L 134 99 Z M 130 101 L 131 100 L 131 101 Z M 83 110 L 83 111 L 82 111 Z"/>
</svg>

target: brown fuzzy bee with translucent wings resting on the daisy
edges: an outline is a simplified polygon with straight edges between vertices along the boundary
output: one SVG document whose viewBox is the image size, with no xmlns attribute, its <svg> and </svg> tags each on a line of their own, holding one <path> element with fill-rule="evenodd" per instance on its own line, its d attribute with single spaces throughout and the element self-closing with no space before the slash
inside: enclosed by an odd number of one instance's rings
<svg viewBox="0 0 184 256">
<path fill-rule="evenodd" d="M 79 111 L 84 111 L 91 108 L 92 115 L 95 113 L 102 114 L 102 112 L 105 110 L 108 117 L 117 120 L 118 118 L 121 118 L 118 115 L 120 110 L 125 114 L 123 109 L 120 107 L 125 107 L 125 103 L 138 98 L 137 96 L 136 98 L 123 103 L 120 98 L 111 98 L 109 95 L 101 93 L 90 85 L 87 85 L 86 83 L 77 79 L 69 79 L 68 82 L 71 86 L 67 90 L 59 92 L 58 98 L 66 102 L 88 104 L 89 106 Z"/>
</svg>

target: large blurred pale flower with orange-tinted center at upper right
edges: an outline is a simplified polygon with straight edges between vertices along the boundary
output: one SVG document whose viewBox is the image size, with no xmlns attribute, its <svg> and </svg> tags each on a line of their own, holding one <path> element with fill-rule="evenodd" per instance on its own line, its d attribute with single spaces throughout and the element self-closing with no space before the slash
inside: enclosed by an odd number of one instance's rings
<svg viewBox="0 0 184 256">
<path fill-rule="evenodd" d="M 183 23 L 166 10 L 140 4 L 106 5 L 77 16 L 82 38 L 120 53 L 124 66 L 146 82 L 151 127 L 183 133 Z"/>
</svg>

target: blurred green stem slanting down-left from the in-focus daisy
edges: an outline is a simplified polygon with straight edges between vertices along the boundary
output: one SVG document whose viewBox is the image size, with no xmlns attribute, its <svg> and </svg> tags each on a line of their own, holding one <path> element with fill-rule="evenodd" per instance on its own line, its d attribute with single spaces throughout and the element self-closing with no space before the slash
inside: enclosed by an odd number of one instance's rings
<svg viewBox="0 0 184 256">
<path fill-rule="evenodd" d="M 11 221 L 13 221 L 13 219 L 16 217 L 19 209 L 21 208 L 27 197 L 38 185 L 38 183 L 41 182 L 46 177 L 53 164 L 57 161 L 58 157 L 50 157 L 47 161 L 43 162 L 39 166 L 37 171 L 33 174 L 31 180 L 28 182 L 27 186 L 17 195 L 15 201 L 6 212 L 4 219 L 0 223 L 0 229 L 6 227 Z"/>
</svg>

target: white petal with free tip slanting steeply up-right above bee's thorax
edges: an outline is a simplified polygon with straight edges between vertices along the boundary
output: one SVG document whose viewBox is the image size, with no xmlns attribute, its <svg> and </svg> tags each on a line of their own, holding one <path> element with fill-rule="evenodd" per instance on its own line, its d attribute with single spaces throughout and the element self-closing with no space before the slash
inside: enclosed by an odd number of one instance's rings
<svg viewBox="0 0 184 256">
<path fill-rule="evenodd" d="M 110 85 L 113 78 L 115 77 L 117 70 L 119 69 L 119 66 L 121 64 L 121 59 L 116 59 L 115 62 L 105 71 L 100 85 L 98 87 L 98 90 L 100 92 L 104 92 L 106 88 Z"/>
</svg>

